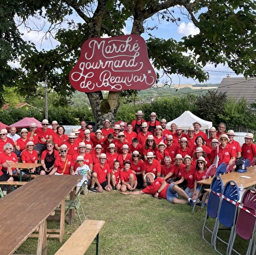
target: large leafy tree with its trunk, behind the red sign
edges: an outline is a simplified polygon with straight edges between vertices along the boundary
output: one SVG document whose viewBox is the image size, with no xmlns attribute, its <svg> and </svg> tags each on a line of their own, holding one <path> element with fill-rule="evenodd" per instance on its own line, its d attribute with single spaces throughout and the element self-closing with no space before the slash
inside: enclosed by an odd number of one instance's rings
<svg viewBox="0 0 256 255">
<path fill-rule="evenodd" d="M 67 104 L 74 92 L 69 72 L 78 60 L 82 44 L 92 37 L 123 35 L 128 21 L 132 23 L 128 33 L 142 35 L 147 31 L 152 35 L 147 40 L 149 57 L 155 68 L 167 74 L 181 74 L 203 82 L 208 73 L 202 68 L 209 62 L 227 63 L 236 74 L 255 74 L 255 1 L 0 0 L 0 3 L 0 86 L 16 85 L 25 96 L 36 93 L 38 82 L 47 80 L 49 89 L 58 93 L 59 102 Z M 72 15 L 78 16 L 80 22 L 75 22 Z M 155 27 L 145 27 L 146 20 L 153 16 L 177 25 L 180 17 L 186 16 L 200 32 L 180 42 L 154 37 Z M 34 23 L 29 23 L 31 17 Z M 25 24 L 28 32 L 42 30 L 37 21 L 48 24 L 44 37 L 57 40 L 57 46 L 40 50 L 33 41 L 23 39 L 20 25 Z M 14 61 L 20 61 L 21 67 L 11 66 Z M 114 121 L 119 96 L 120 93 L 113 92 L 104 99 L 101 91 L 88 93 L 98 124 L 106 117 Z M 1 94 L 0 102 L 3 104 Z"/>
</svg>

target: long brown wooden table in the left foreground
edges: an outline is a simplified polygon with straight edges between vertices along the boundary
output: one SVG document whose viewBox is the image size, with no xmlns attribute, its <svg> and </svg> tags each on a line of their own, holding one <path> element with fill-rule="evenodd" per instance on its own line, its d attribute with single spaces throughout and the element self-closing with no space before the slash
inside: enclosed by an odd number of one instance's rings
<svg viewBox="0 0 256 255">
<path fill-rule="evenodd" d="M 47 254 L 46 219 L 61 204 L 59 241 L 65 227 L 65 197 L 80 175 L 40 175 L 0 200 L 0 254 L 13 254 L 39 228 L 37 255 Z M 56 231 L 57 232 L 57 231 Z M 51 236 L 52 237 L 52 236 Z"/>
</svg>

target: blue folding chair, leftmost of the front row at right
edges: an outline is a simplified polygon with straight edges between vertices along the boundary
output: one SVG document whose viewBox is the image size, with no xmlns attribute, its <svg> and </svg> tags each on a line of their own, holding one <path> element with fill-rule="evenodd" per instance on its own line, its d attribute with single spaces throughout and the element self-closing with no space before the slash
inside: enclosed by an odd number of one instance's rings
<svg viewBox="0 0 256 255">
<path fill-rule="evenodd" d="M 209 245 L 212 246 L 214 228 L 210 229 L 210 227 L 206 226 L 206 220 L 208 219 L 209 216 L 212 218 L 215 218 L 215 219 L 217 218 L 217 212 L 218 212 L 219 202 L 221 200 L 221 197 L 218 196 L 217 194 L 215 194 L 214 192 L 221 193 L 223 190 L 223 182 L 221 180 L 221 177 L 215 176 L 212 179 L 210 190 L 211 191 L 210 191 L 209 198 L 208 198 L 206 215 L 204 218 L 204 224 L 202 226 L 202 239 L 204 239 Z M 208 242 L 205 238 L 205 230 L 208 230 L 208 232 L 212 233 L 211 243 Z"/>
</svg>

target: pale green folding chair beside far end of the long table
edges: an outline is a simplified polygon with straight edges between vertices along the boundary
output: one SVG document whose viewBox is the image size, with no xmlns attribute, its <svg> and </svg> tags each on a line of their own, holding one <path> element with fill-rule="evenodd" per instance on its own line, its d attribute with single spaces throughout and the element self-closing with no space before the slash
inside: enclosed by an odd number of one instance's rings
<svg viewBox="0 0 256 255">
<path fill-rule="evenodd" d="M 74 209 L 78 215 L 78 218 L 79 218 L 81 224 L 82 224 L 82 219 L 80 217 L 79 209 L 84 217 L 84 220 L 86 220 L 86 215 L 84 213 L 84 209 L 80 202 L 79 196 L 80 196 L 80 192 L 82 190 L 84 190 L 86 185 L 87 185 L 87 181 L 84 181 L 84 183 L 82 183 L 82 186 L 78 190 L 76 190 L 76 195 L 74 196 L 74 198 L 72 200 L 65 200 L 65 209 L 66 209 L 65 216 L 67 216 L 70 209 Z"/>
</svg>

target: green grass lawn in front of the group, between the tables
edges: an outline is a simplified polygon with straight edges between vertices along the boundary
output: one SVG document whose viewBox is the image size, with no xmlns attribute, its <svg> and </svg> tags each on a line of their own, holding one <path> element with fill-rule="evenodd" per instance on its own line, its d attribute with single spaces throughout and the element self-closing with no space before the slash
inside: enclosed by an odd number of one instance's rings
<svg viewBox="0 0 256 255">
<path fill-rule="evenodd" d="M 90 220 L 104 220 L 99 235 L 99 254 L 108 255 L 158 255 L 158 254 L 217 254 L 202 239 L 202 224 L 206 208 L 192 213 L 188 204 L 173 205 L 167 200 L 157 200 L 150 195 L 124 196 L 118 191 L 92 193 L 80 196 L 86 217 Z M 214 220 L 208 220 L 214 224 Z M 48 223 L 48 228 L 57 222 Z M 50 226 L 52 225 L 52 226 Z M 64 241 L 78 228 L 80 222 L 74 217 L 71 225 L 65 226 Z M 227 235 L 228 231 L 221 232 Z M 227 235 L 228 236 L 228 235 Z M 209 235 L 210 239 L 210 235 Z M 244 240 L 236 240 L 236 247 L 246 253 Z M 225 245 L 219 243 L 225 254 Z M 48 239 L 48 254 L 54 254 L 61 247 L 58 239 Z M 37 239 L 29 238 L 18 248 L 18 254 L 35 254 Z M 91 245 L 86 254 L 95 254 Z M 72 255 L 72 254 L 71 254 Z"/>
</svg>

